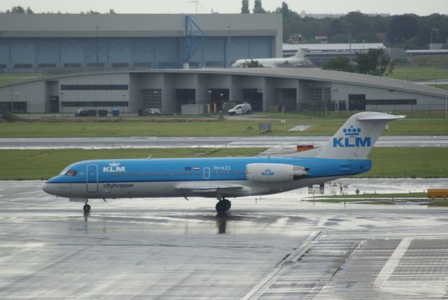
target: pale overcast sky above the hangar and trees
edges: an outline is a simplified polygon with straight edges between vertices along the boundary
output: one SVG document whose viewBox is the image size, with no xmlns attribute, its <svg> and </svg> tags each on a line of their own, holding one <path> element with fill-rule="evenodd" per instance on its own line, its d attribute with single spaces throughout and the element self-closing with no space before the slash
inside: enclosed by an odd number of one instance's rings
<svg viewBox="0 0 448 300">
<path fill-rule="evenodd" d="M 253 8 L 255 0 L 249 0 Z M 262 0 L 262 6 L 274 11 L 281 6 L 281 0 Z M 448 0 L 286 0 L 289 8 L 300 13 L 431 13 L 448 14 Z M 240 13 L 241 0 L 199 0 L 198 13 Z M 0 11 L 13 6 L 29 6 L 34 13 L 57 12 L 80 13 L 80 11 L 99 11 L 106 13 L 113 8 L 116 13 L 195 13 L 195 0 L 1 0 Z"/>
</svg>

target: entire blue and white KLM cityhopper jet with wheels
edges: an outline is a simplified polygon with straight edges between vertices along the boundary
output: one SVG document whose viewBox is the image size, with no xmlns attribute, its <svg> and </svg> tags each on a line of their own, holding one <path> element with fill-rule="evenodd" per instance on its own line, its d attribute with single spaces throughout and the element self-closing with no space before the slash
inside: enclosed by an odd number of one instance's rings
<svg viewBox="0 0 448 300">
<path fill-rule="evenodd" d="M 367 158 L 388 121 L 404 116 L 361 112 L 351 116 L 322 148 L 288 157 L 143 158 L 80 161 L 43 185 L 51 195 L 90 199 L 207 197 L 230 210 L 242 196 L 281 193 L 370 170 Z"/>
</svg>

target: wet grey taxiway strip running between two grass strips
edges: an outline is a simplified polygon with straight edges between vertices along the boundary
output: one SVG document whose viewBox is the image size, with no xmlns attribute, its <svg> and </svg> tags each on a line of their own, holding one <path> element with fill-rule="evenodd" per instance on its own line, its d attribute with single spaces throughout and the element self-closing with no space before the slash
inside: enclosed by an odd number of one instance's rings
<svg viewBox="0 0 448 300">
<path fill-rule="evenodd" d="M 0 149 L 113 149 L 190 147 L 295 147 L 323 146 L 330 137 L 72 137 L 2 138 Z M 375 146 L 446 147 L 448 136 L 383 136 Z"/>
</svg>

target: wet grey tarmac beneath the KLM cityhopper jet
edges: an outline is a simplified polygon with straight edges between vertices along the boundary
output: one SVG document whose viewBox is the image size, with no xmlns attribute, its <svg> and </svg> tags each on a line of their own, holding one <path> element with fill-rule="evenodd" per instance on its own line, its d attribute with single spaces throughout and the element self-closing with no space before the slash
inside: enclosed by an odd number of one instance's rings
<svg viewBox="0 0 448 300">
<path fill-rule="evenodd" d="M 83 214 L 41 185 L 0 182 L 1 299 L 448 297 L 448 207 L 311 203 L 300 189 L 232 200 L 224 215 L 204 198 L 92 200 Z"/>
</svg>

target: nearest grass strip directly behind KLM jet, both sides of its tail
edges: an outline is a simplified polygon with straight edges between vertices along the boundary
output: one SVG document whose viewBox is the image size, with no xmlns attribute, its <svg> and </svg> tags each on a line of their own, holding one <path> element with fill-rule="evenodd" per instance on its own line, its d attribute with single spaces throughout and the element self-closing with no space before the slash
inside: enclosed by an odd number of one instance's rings
<svg viewBox="0 0 448 300">
<path fill-rule="evenodd" d="M 261 148 L 0 150 L 0 179 L 48 179 L 75 161 L 99 158 L 255 156 Z M 373 168 L 359 177 L 448 177 L 447 148 L 374 148 Z M 362 195 L 361 195 L 362 196 Z"/>
</svg>

